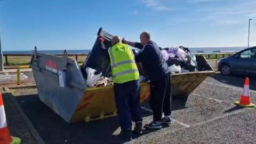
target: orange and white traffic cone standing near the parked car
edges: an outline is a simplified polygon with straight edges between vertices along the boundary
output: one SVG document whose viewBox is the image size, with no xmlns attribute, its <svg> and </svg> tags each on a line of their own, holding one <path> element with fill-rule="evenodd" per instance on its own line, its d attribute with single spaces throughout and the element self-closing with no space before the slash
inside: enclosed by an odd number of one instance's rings
<svg viewBox="0 0 256 144">
<path fill-rule="evenodd" d="M 244 89 L 243 89 L 241 99 L 240 99 L 240 101 L 236 101 L 235 105 L 241 106 L 241 107 L 246 107 L 246 108 L 255 107 L 255 105 L 251 102 L 248 77 L 246 77 L 246 79 L 245 79 Z"/>
</svg>

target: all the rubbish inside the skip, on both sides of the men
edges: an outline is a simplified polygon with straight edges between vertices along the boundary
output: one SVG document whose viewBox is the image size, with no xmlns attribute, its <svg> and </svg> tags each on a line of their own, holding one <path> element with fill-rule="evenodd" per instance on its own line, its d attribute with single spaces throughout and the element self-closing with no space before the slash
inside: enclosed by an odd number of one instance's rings
<svg viewBox="0 0 256 144">
<path fill-rule="evenodd" d="M 187 47 L 166 47 L 162 49 L 162 54 L 172 74 L 197 71 L 196 57 L 190 53 Z M 98 70 L 87 67 L 85 71 L 87 74 L 86 85 L 88 87 L 114 85 L 111 77 L 102 76 L 102 73 Z M 140 76 L 140 82 L 146 81 L 148 79 Z"/>
</svg>

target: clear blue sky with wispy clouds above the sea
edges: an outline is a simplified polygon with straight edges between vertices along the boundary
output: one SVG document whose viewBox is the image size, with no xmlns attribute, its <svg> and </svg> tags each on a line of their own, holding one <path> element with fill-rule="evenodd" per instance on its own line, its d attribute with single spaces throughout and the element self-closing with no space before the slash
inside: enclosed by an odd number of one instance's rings
<svg viewBox="0 0 256 144">
<path fill-rule="evenodd" d="M 99 27 L 139 41 L 149 31 L 161 47 L 256 45 L 255 0 L 0 0 L 4 51 L 91 49 Z"/>
</svg>

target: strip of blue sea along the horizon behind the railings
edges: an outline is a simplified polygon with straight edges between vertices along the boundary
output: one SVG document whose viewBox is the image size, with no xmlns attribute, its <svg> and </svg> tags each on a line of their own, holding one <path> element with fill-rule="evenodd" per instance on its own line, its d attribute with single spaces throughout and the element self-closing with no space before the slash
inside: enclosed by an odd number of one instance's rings
<svg viewBox="0 0 256 144">
<path fill-rule="evenodd" d="M 247 47 L 190 47 L 191 53 L 214 53 L 214 52 L 239 52 Z M 68 54 L 88 54 L 91 49 L 85 50 L 67 50 Z M 64 50 L 42 50 L 38 51 L 49 54 L 63 54 Z M 32 54 L 31 51 L 3 51 L 3 54 Z"/>
</svg>

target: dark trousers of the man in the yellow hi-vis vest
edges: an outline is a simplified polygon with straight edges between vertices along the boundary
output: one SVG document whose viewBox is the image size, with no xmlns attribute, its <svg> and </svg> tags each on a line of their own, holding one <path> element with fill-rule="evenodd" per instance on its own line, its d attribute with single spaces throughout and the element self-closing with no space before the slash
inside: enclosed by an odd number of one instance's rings
<svg viewBox="0 0 256 144">
<path fill-rule="evenodd" d="M 115 101 L 122 130 L 132 128 L 132 122 L 142 121 L 140 106 L 140 82 L 114 83 Z"/>
</svg>

